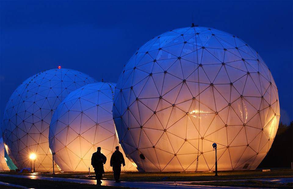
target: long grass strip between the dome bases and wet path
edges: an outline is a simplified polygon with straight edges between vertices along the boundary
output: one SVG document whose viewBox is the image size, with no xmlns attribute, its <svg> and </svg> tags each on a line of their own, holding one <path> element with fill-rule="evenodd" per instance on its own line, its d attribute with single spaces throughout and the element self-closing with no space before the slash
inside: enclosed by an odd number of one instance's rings
<svg viewBox="0 0 293 189">
<path fill-rule="evenodd" d="M 6 173 L 5 173 L 6 174 Z M 15 174 L 15 173 L 14 173 Z M 39 173 L 37 175 L 44 177 L 52 177 L 52 173 Z M 234 179 L 256 179 L 256 178 L 272 178 L 272 177 L 293 177 L 293 172 L 290 169 L 271 170 L 262 172 L 261 170 L 249 171 L 221 171 L 218 172 L 218 177 L 214 176 L 213 172 L 198 172 L 198 173 L 121 173 L 120 179 L 123 181 L 210 181 L 210 180 L 234 180 Z M 95 179 L 94 173 L 57 173 L 55 177 L 60 178 L 82 178 Z M 113 173 L 105 173 L 104 180 L 114 180 Z"/>
</svg>

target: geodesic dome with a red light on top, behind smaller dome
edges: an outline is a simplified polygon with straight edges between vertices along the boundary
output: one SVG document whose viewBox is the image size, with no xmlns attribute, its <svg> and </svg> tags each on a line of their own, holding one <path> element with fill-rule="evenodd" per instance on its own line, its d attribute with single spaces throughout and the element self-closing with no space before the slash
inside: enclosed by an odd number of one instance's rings
<svg viewBox="0 0 293 189">
<path fill-rule="evenodd" d="M 19 168 L 30 168 L 36 155 L 35 171 L 52 170 L 49 124 L 59 103 L 71 91 L 94 79 L 71 69 L 50 69 L 25 80 L 13 92 L 4 110 L 3 140 L 8 154 Z"/>
</svg>

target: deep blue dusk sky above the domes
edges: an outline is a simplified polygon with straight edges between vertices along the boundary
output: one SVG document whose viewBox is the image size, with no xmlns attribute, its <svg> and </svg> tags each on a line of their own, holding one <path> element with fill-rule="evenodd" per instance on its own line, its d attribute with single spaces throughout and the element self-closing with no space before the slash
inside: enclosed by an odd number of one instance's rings
<svg viewBox="0 0 293 189">
<path fill-rule="evenodd" d="M 1 117 L 13 90 L 35 73 L 71 68 L 117 82 L 138 47 L 165 31 L 214 27 L 259 51 L 292 111 L 292 1 L 0 1 Z"/>
</svg>

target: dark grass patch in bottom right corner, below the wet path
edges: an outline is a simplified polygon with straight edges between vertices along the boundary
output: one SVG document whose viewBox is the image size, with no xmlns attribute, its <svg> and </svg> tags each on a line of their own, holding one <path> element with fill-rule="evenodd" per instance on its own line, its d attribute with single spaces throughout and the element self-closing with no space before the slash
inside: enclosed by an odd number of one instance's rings
<svg viewBox="0 0 293 189">
<path fill-rule="evenodd" d="M 256 187 L 256 188 L 293 188 L 293 183 L 281 184 L 277 182 L 249 180 L 249 181 L 214 181 L 214 182 L 194 182 L 192 185 L 212 185 L 212 186 L 233 186 L 233 187 Z"/>
</svg>

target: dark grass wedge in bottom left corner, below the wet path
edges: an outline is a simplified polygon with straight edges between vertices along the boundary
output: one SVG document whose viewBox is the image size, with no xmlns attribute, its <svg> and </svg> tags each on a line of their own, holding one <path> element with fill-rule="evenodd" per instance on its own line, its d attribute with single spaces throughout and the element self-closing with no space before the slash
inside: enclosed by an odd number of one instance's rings
<svg viewBox="0 0 293 189">
<path fill-rule="evenodd" d="M 17 184 L 28 188 L 127 188 L 127 187 L 112 187 L 112 186 L 98 186 L 94 184 L 79 184 L 63 181 L 51 181 L 51 180 L 39 180 L 39 179 L 27 179 L 27 178 L 15 178 L 15 177 L 1 177 L 1 181 L 10 184 Z M 1 185 L 2 188 L 11 188 Z"/>
</svg>

